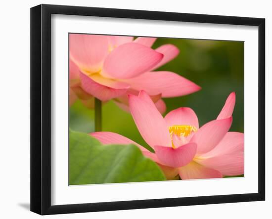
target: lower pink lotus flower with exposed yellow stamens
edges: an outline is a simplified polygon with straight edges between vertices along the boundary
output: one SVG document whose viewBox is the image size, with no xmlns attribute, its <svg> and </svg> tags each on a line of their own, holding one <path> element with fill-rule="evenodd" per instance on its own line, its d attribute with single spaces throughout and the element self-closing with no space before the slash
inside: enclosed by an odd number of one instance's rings
<svg viewBox="0 0 272 219">
<path fill-rule="evenodd" d="M 168 179 L 178 174 L 181 179 L 243 174 L 243 133 L 228 132 L 234 92 L 228 96 L 217 119 L 201 128 L 196 114 L 187 107 L 173 110 L 163 118 L 144 91 L 138 96 L 130 95 L 129 104 L 138 131 L 155 153 L 117 133 L 101 131 L 91 135 L 103 144 L 137 145 L 143 155 L 159 164 Z"/>
</svg>

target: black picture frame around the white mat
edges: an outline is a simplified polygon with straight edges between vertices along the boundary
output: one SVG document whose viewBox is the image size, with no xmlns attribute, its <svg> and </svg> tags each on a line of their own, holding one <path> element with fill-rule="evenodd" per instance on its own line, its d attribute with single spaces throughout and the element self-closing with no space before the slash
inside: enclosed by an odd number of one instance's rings
<svg viewBox="0 0 272 219">
<path fill-rule="evenodd" d="M 51 14 L 257 26 L 258 193 L 51 205 Z M 41 215 L 265 200 L 265 19 L 41 4 L 31 8 L 31 211 Z"/>
</svg>

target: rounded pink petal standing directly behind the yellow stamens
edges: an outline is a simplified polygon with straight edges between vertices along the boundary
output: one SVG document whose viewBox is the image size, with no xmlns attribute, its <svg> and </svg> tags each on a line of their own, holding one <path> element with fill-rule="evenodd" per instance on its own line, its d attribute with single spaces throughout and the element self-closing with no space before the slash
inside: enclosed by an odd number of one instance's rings
<svg viewBox="0 0 272 219">
<path fill-rule="evenodd" d="M 164 117 L 167 126 L 175 126 L 175 125 L 189 125 L 194 126 L 196 129 L 198 126 L 198 118 L 195 112 L 188 107 L 180 107 L 178 109 L 170 111 Z"/>
</svg>

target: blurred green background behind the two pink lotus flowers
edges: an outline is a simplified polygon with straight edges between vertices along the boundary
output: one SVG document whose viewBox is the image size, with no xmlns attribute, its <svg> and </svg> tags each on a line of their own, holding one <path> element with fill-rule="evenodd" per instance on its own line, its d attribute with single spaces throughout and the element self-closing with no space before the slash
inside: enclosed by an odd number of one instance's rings
<svg viewBox="0 0 272 219">
<path fill-rule="evenodd" d="M 234 41 L 211 41 L 159 38 L 152 46 L 174 44 L 180 54 L 156 71 L 172 71 L 196 83 L 202 89 L 190 95 L 164 98 L 167 111 L 186 106 L 198 116 L 199 125 L 216 119 L 230 92 L 236 92 L 236 105 L 230 131 L 244 129 L 244 44 Z M 77 101 L 70 107 L 70 128 L 75 131 L 94 131 L 94 112 Z M 112 101 L 102 107 L 102 130 L 122 134 L 147 147 L 132 116 Z"/>
</svg>

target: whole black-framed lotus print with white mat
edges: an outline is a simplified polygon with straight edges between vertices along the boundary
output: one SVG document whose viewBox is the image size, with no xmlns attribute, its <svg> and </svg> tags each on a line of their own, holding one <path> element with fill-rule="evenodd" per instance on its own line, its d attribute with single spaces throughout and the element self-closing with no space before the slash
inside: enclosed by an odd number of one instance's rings
<svg viewBox="0 0 272 219">
<path fill-rule="evenodd" d="M 265 19 L 31 8 L 31 211 L 265 200 Z"/>
</svg>

